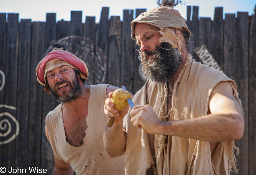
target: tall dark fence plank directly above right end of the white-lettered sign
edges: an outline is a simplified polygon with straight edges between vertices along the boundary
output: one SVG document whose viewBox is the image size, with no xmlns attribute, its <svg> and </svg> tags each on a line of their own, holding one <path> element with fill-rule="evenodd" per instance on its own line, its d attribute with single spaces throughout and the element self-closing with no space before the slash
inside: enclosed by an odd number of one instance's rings
<svg viewBox="0 0 256 175">
<path fill-rule="evenodd" d="M 223 7 L 216 7 L 212 23 L 210 53 L 223 69 Z"/>
</svg>

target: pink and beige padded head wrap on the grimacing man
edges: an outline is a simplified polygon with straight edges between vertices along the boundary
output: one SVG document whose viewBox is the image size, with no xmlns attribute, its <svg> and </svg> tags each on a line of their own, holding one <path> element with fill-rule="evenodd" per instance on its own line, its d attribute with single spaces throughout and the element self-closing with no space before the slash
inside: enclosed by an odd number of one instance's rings
<svg viewBox="0 0 256 175">
<path fill-rule="evenodd" d="M 63 65 L 78 70 L 82 79 L 88 79 L 88 68 L 83 60 L 77 58 L 68 51 L 64 51 L 63 48 L 55 48 L 53 51 L 47 54 L 36 67 L 37 81 L 45 86 L 44 91 L 46 91 L 48 94 L 50 94 L 50 92 L 48 84 L 46 83 L 46 73 L 49 70 Z"/>
</svg>

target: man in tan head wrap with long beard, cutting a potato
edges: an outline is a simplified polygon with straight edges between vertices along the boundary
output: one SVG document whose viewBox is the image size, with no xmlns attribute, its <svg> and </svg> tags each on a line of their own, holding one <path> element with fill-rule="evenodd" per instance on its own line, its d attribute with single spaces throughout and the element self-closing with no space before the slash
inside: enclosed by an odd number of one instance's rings
<svg viewBox="0 0 256 175">
<path fill-rule="evenodd" d="M 158 0 L 131 23 L 147 79 L 137 106 L 125 116 L 105 101 L 105 114 L 115 117 L 105 148 L 111 157 L 125 153 L 126 175 L 237 172 L 233 140 L 243 136 L 244 119 L 236 84 L 192 59 L 190 31 L 173 9 L 179 2 Z"/>
</svg>

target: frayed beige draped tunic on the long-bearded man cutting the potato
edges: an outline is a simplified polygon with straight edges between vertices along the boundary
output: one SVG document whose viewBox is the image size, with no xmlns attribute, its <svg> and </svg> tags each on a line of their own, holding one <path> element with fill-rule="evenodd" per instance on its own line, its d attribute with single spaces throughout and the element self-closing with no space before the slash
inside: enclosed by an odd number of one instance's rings
<svg viewBox="0 0 256 175">
<path fill-rule="evenodd" d="M 174 84 L 172 109 L 170 120 L 183 120 L 206 116 L 209 105 L 209 96 L 213 88 L 220 81 L 229 81 L 233 87 L 237 100 L 236 84 L 224 73 L 195 62 L 189 55 L 184 67 Z M 160 87 L 163 89 L 163 87 Z M 152 81 L 138 91 L 133 98 L 135 105 L 149 104 L 158 116 L 163 94 L 160 97 L 160 88 Z M 161 91 L 163 92 L 163 91 Z M 165 101 L 166 103 L 166 101 Z M 161 111 L 167 116 L 167 105 Z M 131 109 L 130 109 L 131 110 Z M 151 165 L 155 166 L 158 175 L 199 175 L 221 174 L 228 175 L 231 167 L 234 168 L 233 141 L 220 142 L 211 158 L 209 142 L 188 139 L 178 136 L 167 136 L 168 142 L 162 140 L 161 135 L 149 135 L 143 130 L 133 126 L 128 112 L 124 119 L 126 130 L 126 175 L 143 175 Z M 162 144 L 160 143 L 161 140 Z M 236 148 L 236 147 L 235 147 Z M 154 159 L 155 158 L 155 159 Z"/>
</svg>

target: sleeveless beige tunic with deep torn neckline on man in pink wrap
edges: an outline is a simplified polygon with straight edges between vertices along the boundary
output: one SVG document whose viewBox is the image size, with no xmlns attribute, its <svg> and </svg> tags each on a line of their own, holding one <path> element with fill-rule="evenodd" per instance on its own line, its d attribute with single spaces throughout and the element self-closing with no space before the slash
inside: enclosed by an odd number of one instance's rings
<svg viewBox="0 0 256 175">
<path fill-rule="evenodd" d="M 122 175 L 124 156 L 110 158 L 103 144 L 103 132 L 108 118 L 104 114 L 107 84 L 90 86 L 88 101 L 88 128 L 84 144 L 71 146 L 66 141 L 62 119 L 62 103 L 46 117 L 46 126 L 53 152 L 56 157 L 70 163 L 77 175 Z"/>
</svg>

